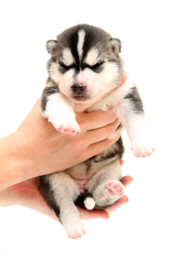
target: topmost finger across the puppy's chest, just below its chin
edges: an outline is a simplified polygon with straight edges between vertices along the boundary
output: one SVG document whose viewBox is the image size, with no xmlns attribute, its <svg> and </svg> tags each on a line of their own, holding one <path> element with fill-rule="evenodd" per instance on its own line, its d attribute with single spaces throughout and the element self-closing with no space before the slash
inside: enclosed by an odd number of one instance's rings
<svg viewBox="0 0 170 256">
<path fill-rule="evenodd" d="M 93 111 L 91 113 L 85 113 L 84 115 L 81 114 L 81 117 L 83 117 L 82 120 L 79 120 L 79 116 L 77 118 L 81 131 L 98 129 L 116 120 L 113 109 L 109 109 L 108 111 Z"/>
</svg>

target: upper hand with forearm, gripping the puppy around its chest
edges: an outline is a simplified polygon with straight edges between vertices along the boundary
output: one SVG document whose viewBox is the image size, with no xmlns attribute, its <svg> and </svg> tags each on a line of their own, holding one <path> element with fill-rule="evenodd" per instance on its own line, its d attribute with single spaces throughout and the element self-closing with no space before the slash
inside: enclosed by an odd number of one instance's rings
<svg viewBox="0 0 170 256">
<path fill-rule="evenodd" d="M 124 74 L 119 86 L 125 79 Z M 0 173 L 0 189 L 68 169 L 115 143 L 121 130 L 114 140 L 107 139 L 120 124 L 113 111 L 85 113 L 87 107 L 77 113 L 81 133 L 73 137 L 59 133 L 47 119 L 42 118 L 39 99 L 17 131 L 2 139 L 6 150 L 0 155 L 2 169 L 5 168 Z"/>
</svg>

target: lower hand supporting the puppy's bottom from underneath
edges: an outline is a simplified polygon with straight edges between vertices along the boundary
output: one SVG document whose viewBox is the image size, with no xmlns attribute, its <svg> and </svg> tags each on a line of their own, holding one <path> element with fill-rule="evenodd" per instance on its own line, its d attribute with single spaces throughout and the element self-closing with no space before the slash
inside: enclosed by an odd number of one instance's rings
<svg viewBox="0 0 170 256">
<path fill-rule="evenodd" d="M 121 161 L 122 165 L 123 161 Z M 122 183 L 126 187 L 133 180 L 130 176 L 122 178 Z M 93 218 L 109 218 L 109 213 L 121 207 L 123 204 L 128 202 L 127 196 L 123 196 L 116 201 L 111 207 L 106 210 L 88 211 L 81 207 L 77 207 L 82 220 L 93 219 Z M 1 206 L 21 205 L 30 209 L 34 209 L 47 215 L 54 220 L 58 220 L 56 214 L 52 209 L 48 207 L 48 204 L 42 197 L 40 190 L 37 187 L 36 178 L 32 178 L 16 185 L 10 186 L 0 192 Z"/>
</svg>

